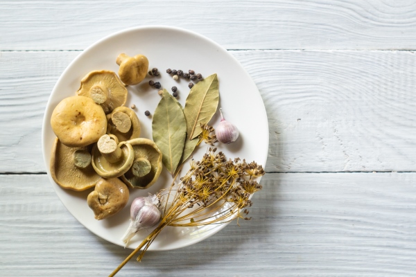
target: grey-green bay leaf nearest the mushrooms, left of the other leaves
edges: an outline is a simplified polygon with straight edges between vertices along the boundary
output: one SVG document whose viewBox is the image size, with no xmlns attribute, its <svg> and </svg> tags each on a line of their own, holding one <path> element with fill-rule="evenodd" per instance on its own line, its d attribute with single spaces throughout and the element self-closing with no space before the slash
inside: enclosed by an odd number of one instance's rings
<svg viewBox="0 0 416 277">
<path fill-rule="evenodd" d="M 184 151 L 187 122 L 177 100 L 166 89 L 153 114 L 152 131 L 153 141 L 162 151 L 162 162 L 173 174 Z"/>
</svg>

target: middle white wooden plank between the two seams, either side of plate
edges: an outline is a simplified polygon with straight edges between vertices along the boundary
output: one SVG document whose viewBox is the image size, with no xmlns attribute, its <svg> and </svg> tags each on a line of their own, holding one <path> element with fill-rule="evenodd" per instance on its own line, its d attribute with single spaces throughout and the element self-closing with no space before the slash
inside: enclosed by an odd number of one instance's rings
<svg viewBox="0 0 416 277">
<path fill-rule="evenodd" d="M 79 52 L 0 52 L 0 172 L 44 172 L 47 99 Z M 268 172 L 416 170 L 410 51 L 232 51 L 263 98 Z"/>
</svg>

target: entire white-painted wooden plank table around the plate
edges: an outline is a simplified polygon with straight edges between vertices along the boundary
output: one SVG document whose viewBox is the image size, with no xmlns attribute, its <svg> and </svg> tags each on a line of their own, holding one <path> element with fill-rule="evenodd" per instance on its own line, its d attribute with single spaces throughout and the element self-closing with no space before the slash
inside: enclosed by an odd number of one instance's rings
<svg viewBox="0 0 416 277">
<path fill-rule="evenodd" d="M 268 113 L 250 222 L 148 252 L 121 276 L 415 276 L 416 1 L 0 1 L 0 275 L 106 276 L 130 250 L 62 205 L 41 153 L 65 67 L 132 26 L 194 30 Z"/>
</svg>

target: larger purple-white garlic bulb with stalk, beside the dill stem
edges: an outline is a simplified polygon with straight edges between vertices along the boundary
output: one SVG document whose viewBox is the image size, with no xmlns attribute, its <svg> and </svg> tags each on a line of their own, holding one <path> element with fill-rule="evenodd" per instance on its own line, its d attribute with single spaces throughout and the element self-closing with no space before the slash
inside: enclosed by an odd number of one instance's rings
<svg viewBox="0 0 416 277">
<path fill-rule="evenodd" d="M 159 205 L 159 197 L 150 195 L 150 193 L 148 197 L 137 197 L 133 200 L 130 207 L 130 226 L 128 226 L 121 239 L 125 245 L 130 242 L 139 230 L 155 226 L 160 221 Z"/>
</svg>

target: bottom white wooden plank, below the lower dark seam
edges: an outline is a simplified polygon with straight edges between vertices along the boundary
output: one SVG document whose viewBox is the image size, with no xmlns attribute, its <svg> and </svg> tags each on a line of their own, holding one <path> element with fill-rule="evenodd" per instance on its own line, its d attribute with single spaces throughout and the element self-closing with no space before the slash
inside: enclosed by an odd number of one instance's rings
<svg viewBox="0 0 416 277">
<path fill-rule="evenodd" d="M 148 252 L 121 276 L 413 276 L 416 173 L 267 174 L 261 184 L 251 221 Z M 106 276 L 130 253 L 79 224 L 46 175 L 1 175 L 0 194 L 2 276 Z"/>
</svg>

